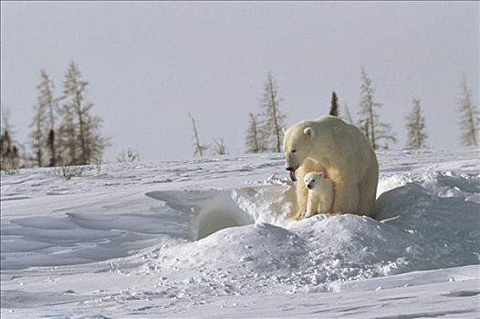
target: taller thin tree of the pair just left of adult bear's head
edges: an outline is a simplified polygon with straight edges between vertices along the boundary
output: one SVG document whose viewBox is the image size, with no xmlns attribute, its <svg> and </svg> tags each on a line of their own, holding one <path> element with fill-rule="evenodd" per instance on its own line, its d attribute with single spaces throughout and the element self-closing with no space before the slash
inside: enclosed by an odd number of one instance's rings
<svg viewBox="0 0 480 319">
<path fill-rule="evenodd" d="M 264 118 L 262 129 L 266 140 L 270 143 L 269 149 L 276 152 L 282 150 L 284 134 L 283 121 L 287 118 L 278 108 L 279 102 L 277 83 L 272 74 L 268 73 L 264 85 L 264 97 L 262 99 L 262 108 L 264 109 L 262 113 L 262 117 Z"/>
</svg>

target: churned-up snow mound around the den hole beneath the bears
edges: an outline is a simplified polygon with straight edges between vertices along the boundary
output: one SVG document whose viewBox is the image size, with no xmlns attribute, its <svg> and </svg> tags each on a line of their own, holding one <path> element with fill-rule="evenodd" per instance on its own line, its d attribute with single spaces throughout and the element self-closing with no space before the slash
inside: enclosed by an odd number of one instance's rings
<svg viewBox="0 0 480 319">
<path fill-rule="evenodd" d="M 287 292 L 328 291 L 339 281 L 477 264 L 480 205 L 464 195 L 439 195 L 478 194 L 478 177 L 452 176 L 448 183 L 440 175 L 414 178 L 423 181 L 381 194 L 377 220 L 346 214 L 291 221 L 293 188 L 287 185 L 150 194 L 181 213 L 196 212 L 199 228 L 197 242 L 150 252 L 146 268 L 201 269 L 193 281 L 228 277 L 228 292 L 247 293 L 272 284 Z M 175 282 L 183 291 L 182 285 Z"/>
</svg>

